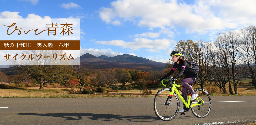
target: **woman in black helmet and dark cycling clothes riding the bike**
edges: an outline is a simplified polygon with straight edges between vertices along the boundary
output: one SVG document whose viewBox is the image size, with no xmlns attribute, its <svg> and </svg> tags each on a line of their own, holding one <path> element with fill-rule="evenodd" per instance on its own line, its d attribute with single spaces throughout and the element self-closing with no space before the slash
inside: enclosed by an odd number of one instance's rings
<svg viewBox="0 0 256 125">
<path fill-rule="evenodd" d="M 182 74 L 184 74 L 185 79 L 181 81 L 181 84 L 183 86 L 182 97 L 185 100 L 187 100 L 187 92 L 189 90 L 192 93 L 190 100 L 195 100 L 198 94 L 192 89 L 191 85 L 196 83 L 199 80 L 199 75 L 194 69 L 190 67 L 187 61 L 182 59 L 180 51 L 173 51 L 170 54 L 170 56 L 172 57 L 172 60 L 175 63 L 173 65 L 172 70 L 169 73 L 167 73 L 165 76 L 163 76 L 160 81 L 172 75 L 177 68 L 179 70 L 179 73 L 173 78 L 172 82 L 174 82 L 177 78 L 179 78 Z M 182 108 L 179 112 L 183 113 L 184 109 Z"/>
</svg>

